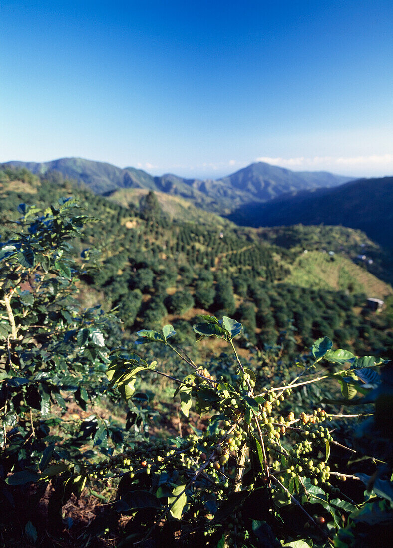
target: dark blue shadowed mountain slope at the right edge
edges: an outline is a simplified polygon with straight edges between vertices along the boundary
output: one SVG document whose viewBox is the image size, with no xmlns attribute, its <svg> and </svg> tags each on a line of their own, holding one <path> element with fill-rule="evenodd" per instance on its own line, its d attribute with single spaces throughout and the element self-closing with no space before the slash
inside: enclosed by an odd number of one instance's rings
<svg viewBox="0 0 393 548">
<path fill-rule="evenodd" d="M 343 225 L 393 247 L 393 177 L 360 179 L 334 189 L 286 194 L 241 206 L 228 218 L 248 226 Z"/>
</svg>

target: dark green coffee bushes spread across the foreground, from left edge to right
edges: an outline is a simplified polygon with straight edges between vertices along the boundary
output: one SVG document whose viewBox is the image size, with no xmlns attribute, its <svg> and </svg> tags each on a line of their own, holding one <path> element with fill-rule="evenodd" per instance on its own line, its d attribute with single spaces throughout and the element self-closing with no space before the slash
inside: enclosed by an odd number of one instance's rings
<svg viewBox="0 0 393 548">
<path fill-rule="evenodd" d="M 128 517 L 119 547 L 341 548 L 370 546 L 376 535 L 388 543 L 391 363 L 333 350 L 325 337 L 290 381 L 260 389 L 235 347 L 242 325 L 225 316 L 202 316 L 193 329 L 199 339 L 229 345 L 226 378 L 172 344 L 171 325 L 139 331 L 136 343 L 166 347 L 184 362 L 185 376 L 113 350 L 116 319 L 81 310 L 74 300 L 70 241 L 85 221 L 74 205 L 61 201 L 43 214 L 21 206 L 18 230 L 0 248 L 2 503 L 12 504 L 15 489 L 31 484 L 39 500 L 50 484 L 48 511 L 61 530 L 61 507 L 71 494 L 114 482 L 117 495 L 106 511 Z M 103 396 L 117 405 L 121 396 L 131 411 L 139 377 L 147 375 L 173 382 L 192 433 L 146 439 L 98 416 L 81 421 L 54 412 L 65 412 L 67 402 L 86 409 Z M 334 396 L 296 415 L 280 412 L 316 383 L 328 384 Z M 195 416 L 208 418 L 206 429 L 194 426 Z M 343 430 L 349 447 L 342 436 L 337 441 Z M 25 532 L 37 540 L 30 521 Z"/>
</svg>

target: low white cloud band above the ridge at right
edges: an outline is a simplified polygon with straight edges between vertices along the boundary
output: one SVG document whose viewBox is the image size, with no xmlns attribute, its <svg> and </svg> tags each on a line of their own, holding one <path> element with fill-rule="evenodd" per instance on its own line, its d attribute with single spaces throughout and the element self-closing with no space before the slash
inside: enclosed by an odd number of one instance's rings
<svg viewBox="0 0 393 548">
<path fill-rule="evenodd" d="M 313 158 L 305 158 L 304 156 L 297 158 L 270 158 L 265 156 L 257 158 L 256 161 L 286 168 L 324 169 L 329 171 L 345 170 L 346 172 L 352 170 L 354 174 L 363 172 L 364 176 L 369 176 L 376 172 L 393 173 L 393 154 L 353 157 L 314 156 Z"/>
</svg>

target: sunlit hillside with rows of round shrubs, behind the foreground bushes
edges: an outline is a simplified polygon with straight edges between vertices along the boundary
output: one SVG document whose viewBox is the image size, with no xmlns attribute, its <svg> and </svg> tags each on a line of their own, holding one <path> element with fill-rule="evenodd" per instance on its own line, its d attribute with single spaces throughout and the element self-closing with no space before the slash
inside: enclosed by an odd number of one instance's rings
<svg viewBox="0 0 393 548">
<path fill-rule="evenodd" d="M 392 346 L 384 312 L 359 314 L 366 296 L 389 295 L 391 288 L 366 265 L 353 263 L 367 245 L 374 257 L 370 268 L 384 267 L 383 252 L 358 231 L 297 226 L 285 236 L 277 229 L 235 226 L 167 195 L 137 190 L 130 198 L 120 191 L 123 203 L 134 200 L 123 207 L 26 170 L 5 170 L 0 181 L 4 237 L 15 226 L 5 219 L 16 219 L 20 202 L 47 206 L 74 195 L 96 219 L 74 242 L 78 252 L 99 249 L 93 255 L 98 268 L 82 276 L 82 295 L 90 305 L 99 299 L 107 310 L 115 308 L 127 333 L 171 321 L 187 337 L 195 315 L 210 312 L 242 321 L 248 340 L 259 347 L 276 344 L 290 321 L 301 333 L 292 352 L 322 335 L 357 352 L 385 355 Z M 329 250 L 333 242 L 334 260 L 311 245 Z M 304 254 L 306 246 L 310 252 Z"/>
</svg>

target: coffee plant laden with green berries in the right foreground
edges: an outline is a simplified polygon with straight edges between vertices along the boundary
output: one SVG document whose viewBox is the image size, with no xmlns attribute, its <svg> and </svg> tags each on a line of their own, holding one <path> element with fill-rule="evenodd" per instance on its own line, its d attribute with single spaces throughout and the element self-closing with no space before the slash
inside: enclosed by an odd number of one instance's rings
<svg viewBox="0 0 393 548">
<path fill-rule="evenodd" d="M 390 364 L 333 350 L 325 337 L 312 346 L 305 363 L 298 364 L 302 370 L 290 383 L 266 386 L 255 394 L 256 376 L 243 367 L 234 346 L 242 325 L 228 317 L 200 319 L 194 325 L 200 339 L 216 336 L 232 348 L 232 383 L 214 378 L 173 346 L 170 325 L 162 333 L 139 331 L 136 343 L 159 341 L 183 359 L 187 376 L 174 378 L 137 354 L 115 355 L 108 367 L 111 386 L 125 398 L 132 395 L 137 377 L 148 371 L 169 376 L 177 385 L 174 396 L 186 418 L 192 406 L 198 414 L 209 414 L 206 431 L 193 428 L 190 435 L 167 443 L 135 444 L 114 461 L 91 466 L 95 476 L 121 476 L 115 505 L 131 512 L 140 528 L 128 542 L 143 546 L 154 540 L 159 545 L 163 535 L 176 539 L 176 532 L 179 543 L 189 546 L 353 546 L 357 534 L 369 542 L 376 524 L 386 535 L 392 513 L 391 427 L 386 431 L 386 415 L 373 415 L 369 404 L 375 401 L 377 409 L 391 409 Z M 338 370 L 329 372 L 323 364 Z M 330 414 L 318 406 L 299 416 L 280 415 L 293 392 L 331 379 L 340 385 L 342 397 L 325 403 L 368 404 L 366 413 Z M 358 393 L 363 397 L 356 397 Z M 362 416 L 361 439 L 368 432 L 368 443 L 355 450 L 334 440 L 338 419 Z M 378 448 L 370 435 L 373 430 L 380 436 Z M 330 464 L 335 446 L 367 461 L 370 476 L 348 473 L 345 460 L 341 470 L 334 461 Z M 364 482 L 372 494 L 361 503 L 354 501 L 343 488 L 346 481 Z M 364 524 L 374 526 L 373 532 Z"/>
</svg>

